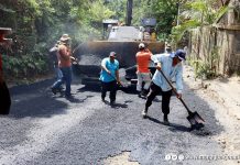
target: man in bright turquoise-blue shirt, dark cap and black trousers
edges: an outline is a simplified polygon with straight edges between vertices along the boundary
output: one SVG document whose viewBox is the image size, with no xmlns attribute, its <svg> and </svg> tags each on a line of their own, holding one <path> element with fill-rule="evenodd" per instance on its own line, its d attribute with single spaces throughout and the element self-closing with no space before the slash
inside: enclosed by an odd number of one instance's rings
<svg viewBox="0 0 240 165">
<path fill-rule="evenodd" d="M 119 62 L 116 59 L 116 53 L 111 52 L 109 57 L 101 61 L 101 100 L 105 102 L 107 91 L 110 91 L 110 105 L 114 105 L 117 95 L 117 85 L 121 85 L 119 79 Z"/>
</svg>

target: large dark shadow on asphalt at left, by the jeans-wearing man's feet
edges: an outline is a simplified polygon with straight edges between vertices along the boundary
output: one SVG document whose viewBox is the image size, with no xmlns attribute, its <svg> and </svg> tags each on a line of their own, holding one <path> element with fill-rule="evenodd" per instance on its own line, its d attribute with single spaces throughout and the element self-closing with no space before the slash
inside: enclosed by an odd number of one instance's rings
<svg viewBox="0 0 240 165">
<path fill-rule="evenodd" d="M 53 79 L 43 80 L 32 85 L 22 85 L 10 88 L 12 106 L 10 118 L 51 118 L 67 113 L 69 103 L 83 103 L 94 96 L 87 95 L 78 98 L 77 94 L 65 98 L 63 94 L 53 96 L 50 86 Z"/>
</svg>

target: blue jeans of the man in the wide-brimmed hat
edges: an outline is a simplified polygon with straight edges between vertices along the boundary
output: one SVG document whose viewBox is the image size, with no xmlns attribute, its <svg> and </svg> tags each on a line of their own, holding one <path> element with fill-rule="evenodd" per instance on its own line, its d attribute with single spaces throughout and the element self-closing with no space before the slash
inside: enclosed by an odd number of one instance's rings
<svg viewBox="0 0 240 165">
<path fill-rule="evenodd" d="M 61 67 L 59 68 L 63 77 L 54 82 L 53 89 L 59 89 L 61 85 L 66 84 L 65 95 L 70 96 L 70 82 L 72 82 L 72 68 L 70 67 Z"/>
</svg>

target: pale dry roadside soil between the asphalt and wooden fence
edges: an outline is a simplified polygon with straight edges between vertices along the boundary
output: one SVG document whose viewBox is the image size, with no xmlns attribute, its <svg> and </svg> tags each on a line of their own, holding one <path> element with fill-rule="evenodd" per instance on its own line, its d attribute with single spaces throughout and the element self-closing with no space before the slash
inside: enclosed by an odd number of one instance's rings
<svg viewBox="0 0 240 165">
<path fill-rule="evenodd" d="M 200 80 L 194 76 L 193 68 L 185 66 L 184 81 L 209 105 L 216 102 L 216 119 L 225 131 L 214 136 L 228 156 L 240 153 L 240 77 Z M 232 163 L 240 164 L 240 160 Z"/>
</svg>

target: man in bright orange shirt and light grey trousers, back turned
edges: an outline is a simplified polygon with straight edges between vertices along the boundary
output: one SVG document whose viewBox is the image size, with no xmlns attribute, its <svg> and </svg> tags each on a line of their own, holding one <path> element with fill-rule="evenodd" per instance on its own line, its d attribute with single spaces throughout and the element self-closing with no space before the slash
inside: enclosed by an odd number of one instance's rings
<svg viewBox="0 0 240 165">
<path fill-rule="evenodd" d="M 139 91 L 139 97 L 146 97 L 151 84 L 151 73 L 149 69 L 149 63 L 151 62 L 152 53 L 145 48 L 143 43 L 139 44 L 139 52 L 135 55 L 137 58 L 137 76 L 138 84 L 137 90 Z M 144 86 L 142 88 L 142 85 Z"/>
</svg>

